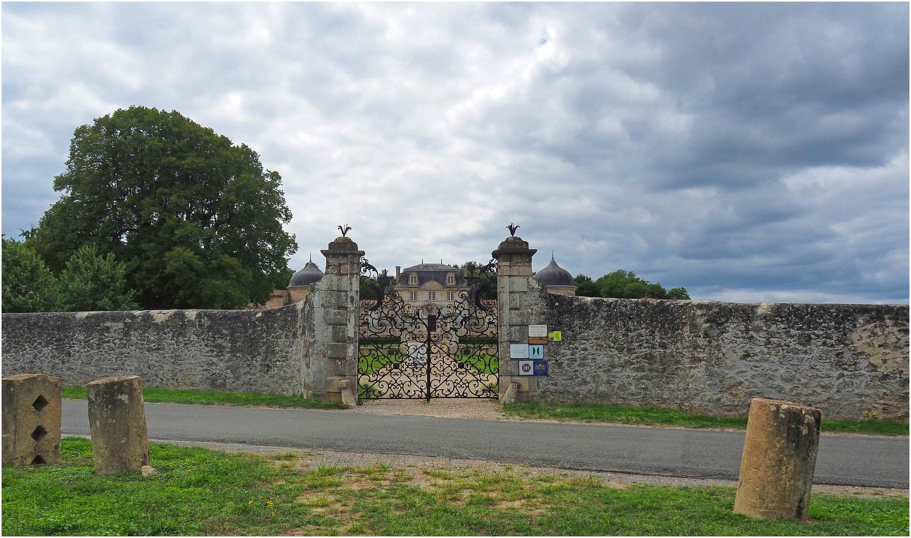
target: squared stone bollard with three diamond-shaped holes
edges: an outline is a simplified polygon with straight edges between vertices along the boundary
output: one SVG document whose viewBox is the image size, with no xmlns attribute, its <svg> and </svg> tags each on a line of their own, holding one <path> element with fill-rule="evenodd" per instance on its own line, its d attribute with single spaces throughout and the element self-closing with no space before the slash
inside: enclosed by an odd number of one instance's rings
<svg viewBox="0 0 911 538">
<path fill-rule="evenodd" d="M 3 462 L 53 463 L 60 459 L 60 378 L 20 373 L 3 378 Z"/>
</svg>

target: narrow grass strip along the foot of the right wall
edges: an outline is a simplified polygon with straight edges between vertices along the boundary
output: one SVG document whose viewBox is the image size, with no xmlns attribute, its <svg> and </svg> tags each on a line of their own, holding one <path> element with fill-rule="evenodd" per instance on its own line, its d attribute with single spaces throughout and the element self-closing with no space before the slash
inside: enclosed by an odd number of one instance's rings
<svg viewBox="0 0 911 538">
<path fill-rule="evenodd" d="M 685 413 L 669 408 L 630 407 L 602 403 L 556 403 L 517 401 L 503 406 L 509 415 L 527 419 L 557 419 L 621 424 L 681 426 L 684 428 L 746 429 L 746 418 L 715 417 Z M 908 423 L 898 421 L 823 421 L 823 431 L 907 435 Z"/>
</svg>

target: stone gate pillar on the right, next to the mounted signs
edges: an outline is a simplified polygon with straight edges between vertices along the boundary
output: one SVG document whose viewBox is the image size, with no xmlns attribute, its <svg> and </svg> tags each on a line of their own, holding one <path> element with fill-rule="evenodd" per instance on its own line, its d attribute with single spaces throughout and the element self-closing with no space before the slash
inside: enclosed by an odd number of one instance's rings
<svg viewBox="0 0 911 538">
<path fill-rule="evenodd" d="M 528 344 L 528 325 L 545 323 L 544 312 L 535 308 L 540 285 L 532 278 L 531 257 L 537 249 L 528 249 L 522 238 L 505 239 L 491 253 L 497 261 L 496 309 L 499 335 L 500 399 L 510 383 L 519 383 L 517 400 L 534 400 L 537 393 L 535 376 L 518 375 L 518 360 L 509 358 L 510 344 Z"/>
</svg>

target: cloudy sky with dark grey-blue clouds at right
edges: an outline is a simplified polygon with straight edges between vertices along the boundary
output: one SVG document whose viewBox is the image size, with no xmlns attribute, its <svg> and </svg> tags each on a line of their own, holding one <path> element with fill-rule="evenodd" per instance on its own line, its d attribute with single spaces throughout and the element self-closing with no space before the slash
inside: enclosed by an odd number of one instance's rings
<svg viewBox="0 0 911 538">
<path fill-rule="evenodd" d="M 178 110 L 283 178 L 300 269 L 486 261 L 908 302 L 908 5 L 3 4 L 3 232 L 78 126 Z"/>
</svg>

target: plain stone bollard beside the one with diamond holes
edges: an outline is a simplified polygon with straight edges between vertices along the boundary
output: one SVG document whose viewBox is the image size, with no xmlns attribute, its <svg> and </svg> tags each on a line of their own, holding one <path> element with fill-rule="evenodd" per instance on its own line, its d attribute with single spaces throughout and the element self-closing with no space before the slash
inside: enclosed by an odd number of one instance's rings
<svg viewBox="0 0 911 538">
<path fill-rule="evenodd" d="M 95 473 L 140 472 L 150 458 L 139 376 L 92 381 L 87 389 Z"/>
</svg>

